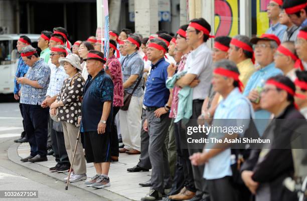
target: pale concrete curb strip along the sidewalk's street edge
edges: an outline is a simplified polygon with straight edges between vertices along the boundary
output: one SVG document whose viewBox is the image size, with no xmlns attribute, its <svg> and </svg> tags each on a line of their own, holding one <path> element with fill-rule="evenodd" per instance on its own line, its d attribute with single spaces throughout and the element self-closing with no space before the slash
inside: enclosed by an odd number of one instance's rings
<svg viewBox="0 0 307 201">
<path fill-rule="evenodd" d="M 63 174 L 68 174 L 68 173 L 57 173 L 57 172 L 50 172 L 49 168 L 40 165 L 38 163 L 29 163 L 29 162 L 21 162 L 20 159 L 21 157 L 18 155 L 18 147 L 20 144 L 18 143 L 14 143 L 13 145 L 10 146 L 10 148 L 8 149 L 8 158 L 9 160 L 11 160 L 12 162 L 19 164 L 21 166 L 27 167 L 28 169 L 31 169 L 33 171 L 36 172 L 40 172 L 42 174 L 45 174 L 47 176 L 50 176 L 52 178 L 57 179 L 58 181 L 61 181 L 63 183 L 63 189 L 65 188 L 65 182 L 62 180 L 63 178 Z M 96 194 L 100 197 L 103 197 L 105 199 L 109 199 L 112 201 L 131 201 L 132 199 L 128 199 L 127 197 L 124 197 L 122 195 L 119 195 L 115 192 L 112 192 L 110 190 L 107 189 L 95 189 L 92 187 L 87 187 L 83 184 L 83 182 L 75 182 L 75 183 L 70 183 L 69 185 L 73 185 L 75 187 L 78 187 L 80 189 L 86 190 L 88 192 L 91 192 L 93 194 Z M 69 186 L 68 186 L 68 190 L 69 190 Z"/>
</svg>

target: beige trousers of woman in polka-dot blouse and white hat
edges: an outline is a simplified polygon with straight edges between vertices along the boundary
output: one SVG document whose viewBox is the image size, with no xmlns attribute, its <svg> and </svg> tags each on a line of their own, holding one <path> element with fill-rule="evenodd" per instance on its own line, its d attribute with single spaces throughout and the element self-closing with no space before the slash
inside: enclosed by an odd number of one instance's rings
<svg viewBox="0 0 307 201">
<path fill-rule="evenodd" d="M 66 151 L 68 154 L 69 162 L 71 164 L 73 155 L 74 155 L 74 148 L 77 142 L 79 128 L 68 122 L 62 121 L 62 124 L 63 124 L 65 147 L 66 147 Z M 74 160 L 74 164 L 72 168 L 75 174 L 86 173 L 85 158 L 84 158 L 83 147 L 81 143 L 81 135 L 78 140 L 75 160 Z"/>
</svg>

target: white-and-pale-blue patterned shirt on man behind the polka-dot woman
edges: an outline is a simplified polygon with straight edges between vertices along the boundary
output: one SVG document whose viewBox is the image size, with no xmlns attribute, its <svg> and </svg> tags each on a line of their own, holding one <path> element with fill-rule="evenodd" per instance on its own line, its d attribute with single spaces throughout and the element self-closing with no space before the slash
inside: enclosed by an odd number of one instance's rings
<svg viewBox="0 0 307 201">
<path fill-rule="evenodd" d="M 63 66 L 59 66 L 58 68 L 53 65 L 50 66 L 51 74 L 50 74 L 50 83 L 47 89 L 46 96 L 53 97 L 58 95 L 62 89 L 64 80 L 68 78 Z"/>
</svg>

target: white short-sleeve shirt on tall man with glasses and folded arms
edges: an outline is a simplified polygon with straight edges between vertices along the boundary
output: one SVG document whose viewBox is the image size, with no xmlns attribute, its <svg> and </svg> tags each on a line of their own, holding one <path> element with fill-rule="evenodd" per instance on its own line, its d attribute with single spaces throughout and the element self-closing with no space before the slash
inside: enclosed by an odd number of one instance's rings
<svg viewBox="0 0 307 201">
<path fill-rule="evenodd" d="M 191 52 L 185 70 L 188 74 L 195 74 L 200 80 L 200 83 L 193 88 L 193 100 L 204 100 L 208 96 L 213 73 L 212 53 L 206 43 Z"/>
</svg>

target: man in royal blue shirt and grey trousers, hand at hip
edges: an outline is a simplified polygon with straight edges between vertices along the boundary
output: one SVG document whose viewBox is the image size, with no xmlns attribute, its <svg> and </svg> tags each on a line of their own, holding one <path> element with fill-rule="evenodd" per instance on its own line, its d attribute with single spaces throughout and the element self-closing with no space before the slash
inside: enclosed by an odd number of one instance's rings
<svg viewBox="0 0 307 201">
<path fill-rule="evenodd" d="M 152 62 L 150 75 L 146 82 L 143 104 L 146 120 L 143 124 L 149 135 L 148 153 L 152 166 L 151 187 L 141 200 L 157 200 L 162 198 L 165 190 L 171 188 L 172 178 L 165 146 L 165 138 L 171 123 L 169 118 L 172 96 L 166 87 L 168 66 L 164 59 L 167 45 L 159 39 L 151 39 L 147 46 L 147 57 Z"/>
</svg>

